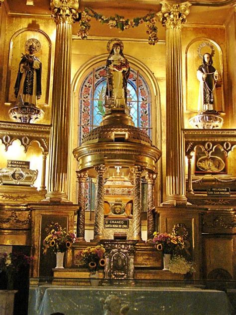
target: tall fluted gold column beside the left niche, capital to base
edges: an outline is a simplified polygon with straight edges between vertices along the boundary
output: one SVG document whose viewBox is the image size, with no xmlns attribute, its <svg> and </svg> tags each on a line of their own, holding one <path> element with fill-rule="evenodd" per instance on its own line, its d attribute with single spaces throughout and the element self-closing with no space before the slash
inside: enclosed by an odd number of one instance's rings
<svg viewBox="0 0 236 315">
<path fill-rule="evenodd" d="M 55 61 L 52 90 L 52 132 L 50 138 L 47 199 L 67 200 L 68 136 L 71 79 L 72 24 L 78 17 L 78 0 L 51 0 L 56 22 Z"/>
</svg>

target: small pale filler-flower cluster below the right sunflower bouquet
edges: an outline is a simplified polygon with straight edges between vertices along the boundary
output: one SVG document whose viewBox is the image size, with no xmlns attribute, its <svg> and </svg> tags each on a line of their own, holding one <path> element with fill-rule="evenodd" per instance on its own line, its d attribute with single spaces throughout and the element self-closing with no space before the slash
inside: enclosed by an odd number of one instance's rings
<svg viewBox="0 0 236 315">
<path fill-rule="evenodd" d="M 195 272 L 192 262 L 187 261 L 183 256 L 173 255 L 169 264 L 169 271 L 175 274 L 185 275 Z"/>
</svg>

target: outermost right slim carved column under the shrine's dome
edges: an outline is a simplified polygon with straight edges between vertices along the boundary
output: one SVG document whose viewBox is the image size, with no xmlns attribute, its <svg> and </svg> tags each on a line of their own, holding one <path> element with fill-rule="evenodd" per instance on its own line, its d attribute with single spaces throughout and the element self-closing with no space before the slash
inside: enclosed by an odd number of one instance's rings
<svg viewBox="0 0 236 315">
<path fill-rule="evenodd" d="M 156 174 L 148 173 L 146 175 L 147 179 L 147 240 L 152 240 L 153 233 L 155 232 L 155 220 L 153 209 L 155 207 L 154 200 L 154 184 L 156 179 Z"/>
</svg>

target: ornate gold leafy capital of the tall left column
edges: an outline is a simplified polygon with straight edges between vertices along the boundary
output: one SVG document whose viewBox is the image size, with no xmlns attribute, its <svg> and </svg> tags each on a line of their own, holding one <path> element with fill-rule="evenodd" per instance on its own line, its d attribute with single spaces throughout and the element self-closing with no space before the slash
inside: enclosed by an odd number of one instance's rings
<svg viewBox="0 0 236 315">
<path fill-rule="evenodd" d="M 60 22 L 73 24 L 79 17 L 79 0 L 51 0 L 50 6 L 56 24 Z"/>
</svg>

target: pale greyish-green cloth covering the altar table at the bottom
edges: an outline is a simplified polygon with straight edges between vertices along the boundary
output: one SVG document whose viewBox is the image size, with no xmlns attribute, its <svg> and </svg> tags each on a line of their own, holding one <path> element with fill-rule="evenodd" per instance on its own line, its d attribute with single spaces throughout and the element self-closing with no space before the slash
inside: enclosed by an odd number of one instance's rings
<svg viewBox="0 0 236 315">
<path fill-rule="evenodd" d="M 28 315 L 103 315 L 100 299 L 116 295 L 127 315 L 233 315 L 225 292 L 198 288 L 30 288 Z"/>
</svg>

